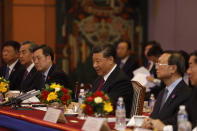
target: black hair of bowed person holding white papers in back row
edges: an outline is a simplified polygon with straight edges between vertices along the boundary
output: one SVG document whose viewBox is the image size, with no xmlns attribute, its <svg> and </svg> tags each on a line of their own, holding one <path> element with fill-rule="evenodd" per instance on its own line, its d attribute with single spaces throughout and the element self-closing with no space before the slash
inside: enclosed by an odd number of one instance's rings
<svg viewBox="0 0 197 131">
<path fill-rule="evenodd" d="M 153 44 L 150 50 L 147 53 L 147 56 L 156 56 L 159 57 L 163 53 L 163 49 L 158 44 Z"/>
</svg>

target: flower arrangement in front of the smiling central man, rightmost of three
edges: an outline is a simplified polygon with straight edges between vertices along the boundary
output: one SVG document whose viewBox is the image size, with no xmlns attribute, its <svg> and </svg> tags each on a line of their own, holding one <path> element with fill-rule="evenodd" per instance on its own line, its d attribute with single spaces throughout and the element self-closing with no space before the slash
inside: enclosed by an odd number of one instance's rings
<svg viewBox="0 0 197 131">
<path fill-rule="evenodd" d="M 105 116 L 113 111 L 109 97 L 101 91 L 88 93 L 80 109 L 86 115 Z"/>
</svg>

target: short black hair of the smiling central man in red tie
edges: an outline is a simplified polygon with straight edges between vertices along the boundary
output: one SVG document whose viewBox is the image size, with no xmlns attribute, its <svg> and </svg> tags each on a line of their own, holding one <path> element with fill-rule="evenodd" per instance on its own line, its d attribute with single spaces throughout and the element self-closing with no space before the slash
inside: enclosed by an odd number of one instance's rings
<svg viewBox="0 0 197 131">
<path fill-rule="evenodd" d="M 103 52 L 103 57 L 108 58 L 112 56 L 114 60 L 116 59 L 115 47 L 111 44 L 100 44 L 92 48 L 92 54 Z"/>
</svg>

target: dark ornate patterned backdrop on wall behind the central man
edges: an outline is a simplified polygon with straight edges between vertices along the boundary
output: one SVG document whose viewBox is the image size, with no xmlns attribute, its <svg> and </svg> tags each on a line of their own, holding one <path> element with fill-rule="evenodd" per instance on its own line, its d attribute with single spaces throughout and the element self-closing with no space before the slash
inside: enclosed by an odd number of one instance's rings
<svg viewBox="0 0 197 131">
<path fill-rule="evenodd" d="M 90 54 L 94 45 L 127 40 L 133 52 L 141 54 L 140 7 L 139 0 L 57 1 L 57 61 L 73 81 L 94 81 Z"/>
</svg>

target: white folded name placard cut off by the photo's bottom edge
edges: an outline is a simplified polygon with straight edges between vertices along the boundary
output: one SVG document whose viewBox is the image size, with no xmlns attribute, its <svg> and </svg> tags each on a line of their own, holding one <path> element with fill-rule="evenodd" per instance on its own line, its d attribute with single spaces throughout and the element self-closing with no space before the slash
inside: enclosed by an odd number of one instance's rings
<svg viewBox="0 0 197 131">
<path fill-rule="evenodd" d="M 84 131 L 111 131 L 105 118 L 88 117 L 82 127 Z"/>
</svg>

